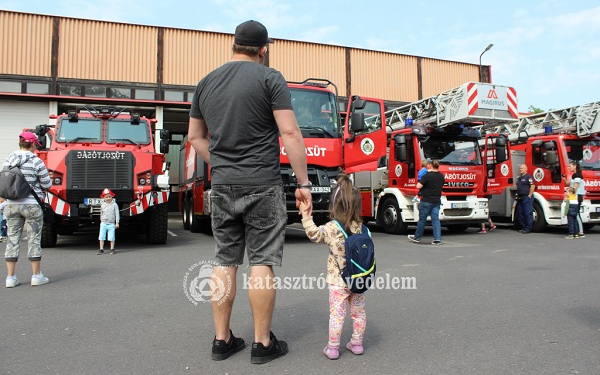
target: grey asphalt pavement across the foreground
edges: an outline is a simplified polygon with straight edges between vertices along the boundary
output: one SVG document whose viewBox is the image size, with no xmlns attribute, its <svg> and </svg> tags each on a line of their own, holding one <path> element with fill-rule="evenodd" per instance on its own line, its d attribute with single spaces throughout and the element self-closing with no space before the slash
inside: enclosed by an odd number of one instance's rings
<svg viewBox="0 0 600 375">
<path fill-rule="evenodd" d="M 322 354 L 328 248 L 294 224 L 273 322 L 290 352 L 264 365 L 250 364 L 248 267 L 232 316 L 248 347 L 212 361 L 203 268 L 214 241 L 184 231 L 177 215 L 169 230 L 166 245 L 117 231 L 118 253 L 100 256 L 96 231 L 59 236 L 43 252 L 51 282 L 37 287 L 24 247 L 21 285 L 0 288 L 0 374 L 600 374 L 598 227 L 579 240 L 565 240 L 564 228 L 444 230 L 442 246 L 430 244 L 430 229 L 415 244 L 373 228 L 379 285 L 366 296 L 365 353 L 331 361 Z M 348 316 L 342 345 L 350 335 Z"/>
</svg>

